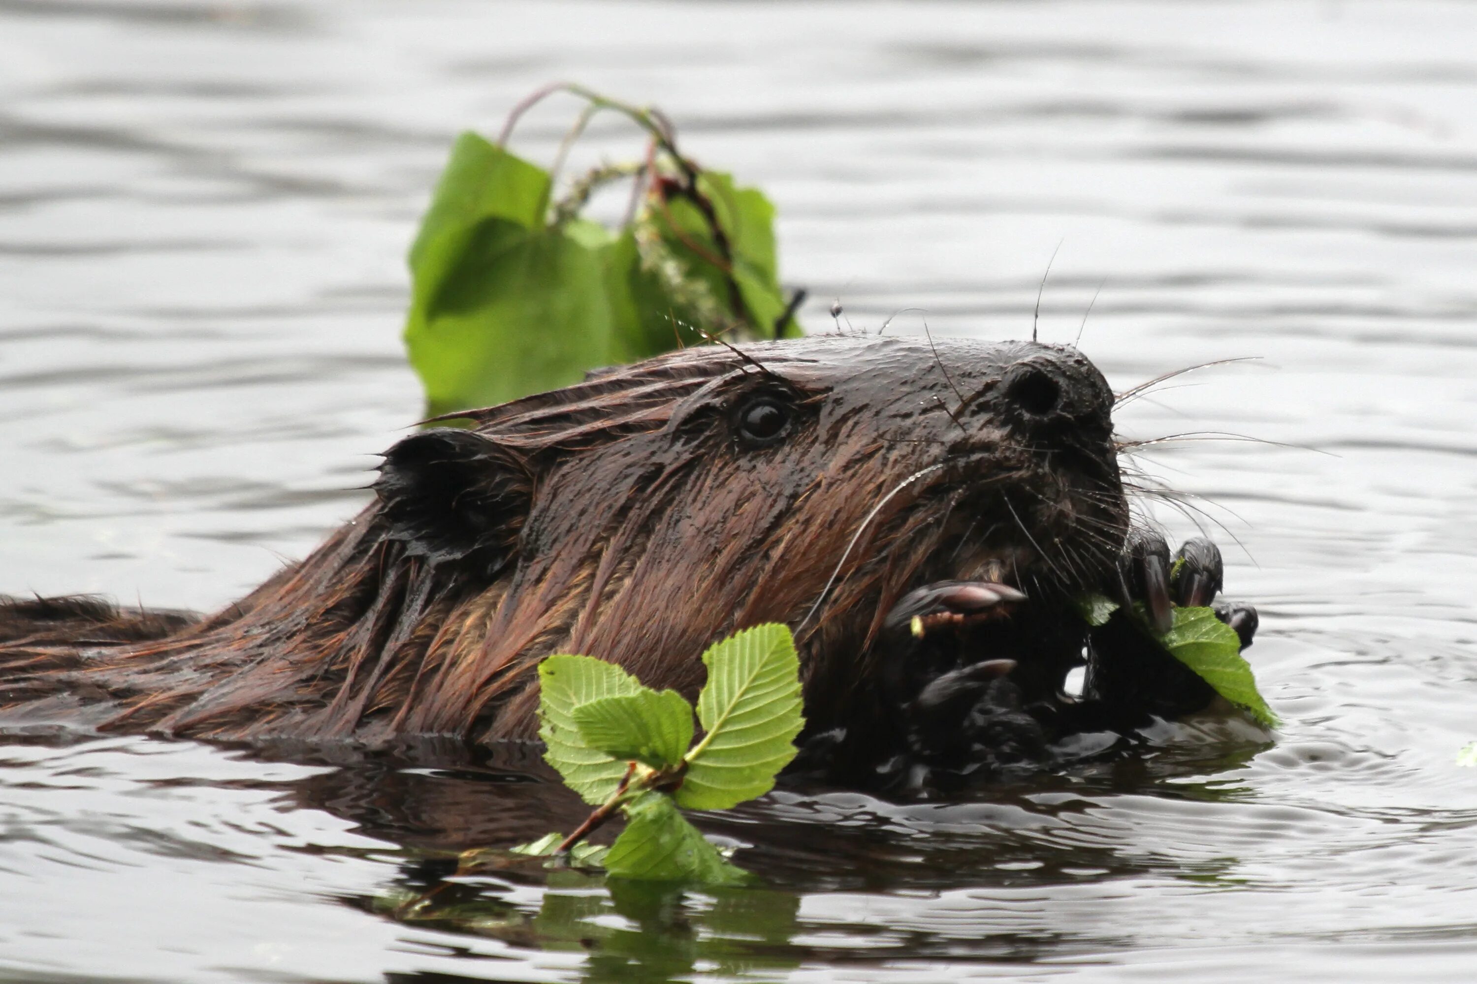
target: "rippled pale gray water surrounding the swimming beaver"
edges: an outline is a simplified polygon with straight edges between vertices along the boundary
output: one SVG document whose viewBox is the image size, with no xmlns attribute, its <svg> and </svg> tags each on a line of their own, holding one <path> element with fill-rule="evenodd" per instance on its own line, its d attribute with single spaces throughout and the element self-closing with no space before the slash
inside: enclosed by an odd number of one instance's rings
<svg viewBox="0 0 1477 984">
<path fill-rule="evenodd" d="M 1204 497 L 1285 718 L 703 819 L 762 890 L 489 872 L 428 916 L 439 851 L 572 808 L 533 763 L 12 741 L 0 980 L 1477 978 L 1474 40 L 1416 0 L 0 0 L 0 592 L 210 609 L 356 512 L 419 412 L 449 140 L 575 78 L 775 199 L 811 330 L 1021 338 L 1059 246 L 1041 338 L 1118 388 L 1250 358 L 1120 426 L 1267 441 L 1145 465 Z M 575 164 L 638 149 L 597 121 Z"/>
</svg>

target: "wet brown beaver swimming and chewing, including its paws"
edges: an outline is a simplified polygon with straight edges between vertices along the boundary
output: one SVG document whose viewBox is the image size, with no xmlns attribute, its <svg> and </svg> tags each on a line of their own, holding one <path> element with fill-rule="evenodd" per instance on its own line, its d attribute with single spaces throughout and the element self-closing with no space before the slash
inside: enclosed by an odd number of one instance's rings
<svg viewBox="0 0 1477 984">
<path fill-rule="evenodd" d="M 403 438 L 372 505 L 214 615 L 6 600 L 0 723 L 533 739 L 549 654 L 693 698 L 705 646 L 774 621 L 801 654 L 795 770 L 917 789 L 1044 761 L 1214 699 L 1125 620 L 1075 614 L 1084 592 L 1162 617 L 1220 589 L 1213 544 L 1171 564 L 1130 524 L 1112 409 L 1081 353 L 1024 341 L 811 336 L 597 370 Z M 1220 612 L 1250 645 L 1255 611 Z"/>
</svg>

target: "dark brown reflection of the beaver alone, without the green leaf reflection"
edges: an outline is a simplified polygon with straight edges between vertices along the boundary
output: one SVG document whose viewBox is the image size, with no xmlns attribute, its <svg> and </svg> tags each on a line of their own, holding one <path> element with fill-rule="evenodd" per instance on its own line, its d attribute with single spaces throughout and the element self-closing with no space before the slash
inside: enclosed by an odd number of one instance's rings
<svg viewBox="0 0 1477 984">
<path fill-rule="evenodd" d="M 805 891 L 867 890 L 898 879 L 914 888 L 979 885 L 981 872 L 991 870 L 1006 872 L 1000 884 L 1060 881 L 1063 869 L 1120 876 L 1164 866 L 1176 873 L 1179 862 L 1117 856 L 1100 844 L 1112 839 L 1115 826 L 1093 817 L 1099 800 L 1154 795 L 1186 810 L 1233 803 L 1247 789 L 1223 783 L 1219 773 L 1244 766 L 1258 748 L 1223 741 L 1130 752 L 1025 775 L 991 785 L 973 800 L 948 803 L 895 804 L 781 780 L 759 803 L 694 816 L 719 842 L 741 845 L 738 860 L 768 882 Z M 357 757 L 329 751 L 295 744 L 270 749 L 300 764 L 332 763 L 291 783 L 292 801 L 415 854 L 513 847 L 549 831 L 572 831 L 589 813 L 533 744 L 467 749 L 433 739 Z M 617 829 L 601 829 L 595 842 L 610 842 Z M 1204 878 L 1208 872 L 1189 873 Z M 984 878 L 990 884 L 994 875 Z"/>
</svg>

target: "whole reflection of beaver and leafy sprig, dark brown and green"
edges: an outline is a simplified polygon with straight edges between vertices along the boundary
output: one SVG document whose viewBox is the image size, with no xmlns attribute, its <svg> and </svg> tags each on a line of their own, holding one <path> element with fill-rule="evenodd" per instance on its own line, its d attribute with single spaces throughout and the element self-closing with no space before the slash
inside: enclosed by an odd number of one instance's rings
<svg viewBox="0 0 1477 984">
<path fill-rule="evenodd" d="M 1183 736 L 1182 736 L 1183 738 Z M 338 749 L 276 748 L 294 761 L 335 767 L 288 786 L 295 805 L 352 820 L 405 848 L 393 885 L 346 903 L 411 926 L 499 940 L 523 949 L 589 956 L 583 980 L 678 980 L 699 965 L 724 974 L 775 972 L 846 959 L 798 918 L 817 893 L 1052 891 L 1161 873 L 1199 888 L 1230 887 L 1235 857 L 1186 860 L 1124 851 L 1123 825 L 1093 819 L 1102 797 L 1155 794 L 1217 804 L 1244 794 L 1217 773 L 1245 764 L 1251 744 L 1214 742 L 1131 754 L 1068 773 L 1027 776 L 975 803 L 892 804 L 854 792 L 781 788 L 756 804 L 702 814 L 719 842 L 764 888 L 691 891 L 611 882 L 546 859 L 492 851 L 468 865 L 458 853 L 511 847 L 569 831 L 589 807 L 544 764 L 535 745 L 470 751 L 417 742 L 359 761 Z M 1170 779 L 1190 777 L 1165 789 Z M 609 842 L 616 831 L 597 835 Z M 552 869 L 551 869 L 552 867 Z M 536 907 L 529 888 L 538 890 Z M 1060 928 L 1000 926 L 969 941 L 973 959 L 1031 962 L 1049 954 L 1128 946 Z M 851 928 L 848 932 L 855 932 Z M 902 934 L 913 957 L 959 953 L 959 941 Z M 640 972 L 638 978 L 622 977 Z"/>
</svg>

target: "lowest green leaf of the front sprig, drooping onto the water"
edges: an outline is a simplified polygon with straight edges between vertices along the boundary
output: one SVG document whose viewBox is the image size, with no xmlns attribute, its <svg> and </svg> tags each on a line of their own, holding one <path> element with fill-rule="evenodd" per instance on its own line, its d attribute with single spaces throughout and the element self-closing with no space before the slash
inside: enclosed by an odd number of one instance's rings
<svg viewBox="0 0 1477 984">
<path fill-rule="evenodd" d="M 690 881 L 703 885 L 741 885 L 747 872 L 724 860 L 672 798 L 644 792 L 623 807 L 626 829 L 606 854 L 606 870 L 617 878 Z"/>
</svg>

